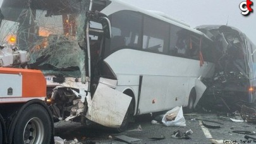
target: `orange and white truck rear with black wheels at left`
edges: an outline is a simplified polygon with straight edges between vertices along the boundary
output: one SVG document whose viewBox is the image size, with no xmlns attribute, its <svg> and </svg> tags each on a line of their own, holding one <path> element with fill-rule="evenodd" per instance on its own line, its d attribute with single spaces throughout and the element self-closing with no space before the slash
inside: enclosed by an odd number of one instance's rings
<svg viewBox="0 0 256 144">
<path fill-rule="evenodd" d="M 42 72 L 0 68 L 0 80 L 0 143 L 54 143 Z"/>
</svg>

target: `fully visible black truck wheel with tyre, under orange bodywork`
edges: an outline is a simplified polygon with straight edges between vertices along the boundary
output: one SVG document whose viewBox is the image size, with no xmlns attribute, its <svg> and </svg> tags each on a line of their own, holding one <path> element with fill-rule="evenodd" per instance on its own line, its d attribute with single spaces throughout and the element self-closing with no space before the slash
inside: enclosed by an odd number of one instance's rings
<svg viewBox="0 0 256 144">
<path fill-rule="evenodd" d="M 15 126 L 13 141 L 18 143 L 50 143 L 52 135 L 51 118 L 39 104 L 26 107 Z"/>
</svg>

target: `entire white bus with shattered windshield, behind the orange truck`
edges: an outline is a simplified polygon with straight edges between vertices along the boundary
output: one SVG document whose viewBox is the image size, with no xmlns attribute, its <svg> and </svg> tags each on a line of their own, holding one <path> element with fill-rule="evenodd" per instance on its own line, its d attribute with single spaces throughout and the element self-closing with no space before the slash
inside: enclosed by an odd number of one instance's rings
<svg viewBox="0 0 256 144">
<path fill-rule="evenodd" d="M 60 2 L 3 1 L 0 32 L 30 51 L 28 68 L 46 76 L 56 119 L 121 131 L 130 116 L 197 105 L 200 78 L 214 73 L 204 33 L 123 1 Z"/>
</svg>

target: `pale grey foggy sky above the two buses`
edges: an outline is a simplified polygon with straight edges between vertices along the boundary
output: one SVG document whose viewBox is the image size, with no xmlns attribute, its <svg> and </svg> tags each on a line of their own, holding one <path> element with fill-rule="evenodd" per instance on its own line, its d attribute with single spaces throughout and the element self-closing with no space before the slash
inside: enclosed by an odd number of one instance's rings
<svg viewBox="0 0 256 144">
<path fill-rule="evenodd" d="M 256 44 L 256 12 L 241 15 L 239 4 L 246 0 L 123 0 L 139 8 L 162 11 L 192 28 L 198 25 L 228 25 L 240 29 Z M 252 9 L 256 11 L 256 0 Z M 3 0 L 0 0 L 0 5 Z"/>
</svg>

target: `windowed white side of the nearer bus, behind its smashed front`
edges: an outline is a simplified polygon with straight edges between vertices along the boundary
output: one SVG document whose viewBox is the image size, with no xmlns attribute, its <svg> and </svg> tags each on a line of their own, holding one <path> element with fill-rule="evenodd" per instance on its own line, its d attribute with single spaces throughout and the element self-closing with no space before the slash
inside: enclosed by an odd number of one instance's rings
<svg viewBox="0 0 256 144">
<path fill-rule="evenodd" d="M 134 114 L 192 109 L 202 96 L 196 81 L 213 74 L 211 40 L 183 22 L 122 1 L 101 12 L 112 32 L 102 56 L 118 78 L 116 89 L 133 97 Z"/>
</svg>

